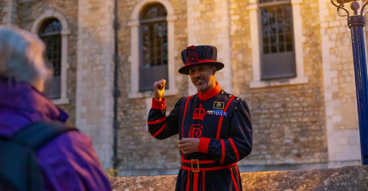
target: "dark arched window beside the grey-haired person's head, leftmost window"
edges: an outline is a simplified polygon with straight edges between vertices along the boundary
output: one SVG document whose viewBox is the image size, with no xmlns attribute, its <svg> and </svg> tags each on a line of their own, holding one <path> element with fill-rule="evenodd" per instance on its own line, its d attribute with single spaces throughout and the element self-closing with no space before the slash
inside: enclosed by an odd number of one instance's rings
<svg viewBox="0 0 368 191">
<path fill-rule="evenodd" d="M 61 97 L 61 23 L 56 18 L 47 19 L 38 30 L 46 45 L 46 61 L 52 64 L 54 73 L 47 81 L 44 94 L 50 99 Z"/>
</svg>

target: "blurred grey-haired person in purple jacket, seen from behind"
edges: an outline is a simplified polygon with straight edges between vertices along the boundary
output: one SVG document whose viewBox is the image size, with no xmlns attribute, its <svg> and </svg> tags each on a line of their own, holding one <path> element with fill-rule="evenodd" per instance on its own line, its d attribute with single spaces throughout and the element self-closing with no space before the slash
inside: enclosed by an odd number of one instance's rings
<svg viewBox="0 0 368 191">
<path fill-rule="evenodd" d="M 45 45 L 38 36 L 17 28 L 0 28 L 0 137 L 3 141 L 12 140 L 14 134 L 19 134 L 35 122 L 55 122 L 61 124 L 61 128 L 66 126 L 63 123 L 68 115 L 42 93 L 45 82 L 53 73 L 45 62 L 44 51 Z M 35 137 L 31 141 L 39 138 L 37 132 L 30 136 Z M 0 141 L 1 144 L 5 142 Z M 1 152 L 6 152 L 6 148 L 2 149 Z M 112 190 L 90 138 L 75 128 L 49 138 L 33 153 L 42 179 L 36 188 L 56 191 Z M 14 150 L 13 154 L 19 153 Z M 3 157 L 0 153 L 0 159 Z M 4 165 L 1 162 L 11 161 L 0 161 L 0 166 Z M 14 174 L 24 166 L 14 167 Z M 29 170 L 34 166 L 27 168 Z M 25 176 L 31 176 L 27 184 L 35 184 L 32 174 Z M 7 189 L 7 185 L 0 182 L 0 190 Z M 25 190 L 32 189 L 28 187 Z"/>
</svg>

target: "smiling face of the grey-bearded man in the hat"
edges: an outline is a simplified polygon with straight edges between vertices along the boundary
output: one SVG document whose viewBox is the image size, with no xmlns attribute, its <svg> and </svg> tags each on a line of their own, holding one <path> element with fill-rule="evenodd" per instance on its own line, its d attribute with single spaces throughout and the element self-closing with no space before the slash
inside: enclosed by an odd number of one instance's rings
<svg viewBox="0 0 368 191">
<path fill-rule="evenodd" d="M 199 91 L 205 91 L 210 86 L 215 72 L 215 66 L 210 65 L 192 66 L 189 68 L 190 79 Z"/>
</svg>

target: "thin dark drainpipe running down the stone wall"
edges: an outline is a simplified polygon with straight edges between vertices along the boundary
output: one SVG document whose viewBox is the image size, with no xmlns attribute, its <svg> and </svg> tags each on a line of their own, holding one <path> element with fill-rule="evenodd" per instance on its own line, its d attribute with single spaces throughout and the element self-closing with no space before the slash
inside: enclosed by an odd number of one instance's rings
<svg viewBox="0 0 368 191">
<path fill-rule="evenodd" d="M 118 15 L 117 15 L 117 1 L 115 0 L 114 2 L 114 90 L 113 90 L 113 95 L 114 95 L 114 126 L 113 126 L 113 135 L 114 135 L 114 143 L 113 143 L 113 149 L 114 149 L 114 154 L 113 154 L 113 158 L 112 158 L 112 164 L 113 164 L 113 168 L 114 168 L 114 173 L 113 176 L 117 177 L 117 167 L 119 166 L 120 160 L 117 157 L 117 131 L 120 127 L 120 123 L 117 119 L 117 107 L 118 107 L 118 98 L 120 97 L 120 89 L 118 86 L 118 75 L 119 75 L 119 62 L 120 62 L 120 55 L 119 55 L 119 47 L 118 47 L 118 30 L 120 29 L 120 23 L 118 21 Z"/>
</svg>

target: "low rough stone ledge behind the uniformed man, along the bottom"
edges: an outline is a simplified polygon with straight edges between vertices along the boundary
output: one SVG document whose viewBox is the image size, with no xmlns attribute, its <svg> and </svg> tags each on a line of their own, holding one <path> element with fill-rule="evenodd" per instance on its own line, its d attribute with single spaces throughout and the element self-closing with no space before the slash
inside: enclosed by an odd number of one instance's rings
<svg viewBox="0 0 368 191">
<path fill-rule="evenodd" d="M 367 191 L 368 165 L 241 173 L 247 191 Z M 176 176 L 109 177 L 116 191 L 173 191 Z"/>
</svg>

